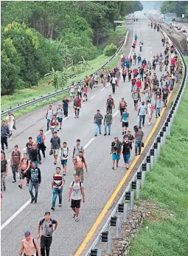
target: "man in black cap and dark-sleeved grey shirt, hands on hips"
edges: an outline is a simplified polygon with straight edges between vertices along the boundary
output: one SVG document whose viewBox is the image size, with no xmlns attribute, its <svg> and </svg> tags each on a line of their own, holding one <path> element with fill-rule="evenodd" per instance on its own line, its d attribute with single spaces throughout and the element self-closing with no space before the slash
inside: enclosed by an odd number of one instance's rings
<svg viewBox="0 0 188 256">
<path fill-rule="evenodd" d="M 45 212 L 44 218 L 38 224 L 37 239 L 41 236 L 41 256 L 49 256 L 53 232 L 58 227 L 58 221 L 51 218 L 50 212 Z"/>
</svg>

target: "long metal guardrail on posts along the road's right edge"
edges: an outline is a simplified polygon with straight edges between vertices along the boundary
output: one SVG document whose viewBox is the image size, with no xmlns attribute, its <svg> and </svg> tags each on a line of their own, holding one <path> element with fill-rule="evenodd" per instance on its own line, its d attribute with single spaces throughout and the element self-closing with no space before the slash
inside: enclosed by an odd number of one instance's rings
<svg viewBox="0 0 188 256">
<path fill-rule="evenodd" d="M 93 256 L 93 255 L 102 255 L 102 250 L 97 249 L 100 246 L 101 240 L 102 240 L 102 232 L 106 232 L 111 225 L 111 218 L 117 215 L 119 204 L 125 203 L 125 193 L 130 192 L 132 188 L 133 181 L 141 180 L 142 184 L 145 182 L 145 171 L 150 170 L 153 168 L 153 163 L 156 162 L 159 153 L 160 148 L 162 145 L 164 145 L 166 136 L 170 136 L 171 126 L 173 125 L 173 120 L 175 117 L 175 114 L 178 111 L 178 106 L 181 102 L 181 97 L 184 94 L 185 85 L 187 83 L 187 65 L 184 61 L 183 55 L 181 53 L 181 50 L 176 47 L 178 54 L 181 57 L 182 63 L 184 63 L 184 77 L 181 83 L 181 87 L 178 90 L 178 95 L 170 108 L 170 114 L 168 114 L 167 119 L 164 121 L 164 124 L 162 125 L 159 134 L 157 134 L 156 139 L 154 139 L 153 144 L 150 147 L 150 150 L 147 152 L 147 155 L 145 156 L 145 159 L 142 161 L 141 165 L 139 165 L 138 170 L 136 170 L 136 173 L 134 174 L 133 178 L 130 180 L 128 187 L 126 187 L 124 193 L 122 194 L 121 198 L 119 199 L 118 203 L 114 207 L 114 210 L 111 212 L 110 217 L 105 222 L 105 225 L 102 227 L 100 234 L 97 235 L 97 238 L 95 239 L 94 243 L 91 245 L 91 247 L 88 249 L 88 252 L 86 253 L 86 256 Z M 142 179 L 138 179 L 138 173 L 142 175 Z M 135 189 L 135 187 L 134 187 Z M 131 200 L 131 196 L 130 196 Z M 133 203 L 133 202 L 132 202 Z M 133 205 L 132 205 L 133 206 Z M 117 225 L 117 222 L 116 222 Z M 120 225 L 120 224 L 119 224 Z M 120 226 L 119 226 L 120 227 Z M 109 232 L 108 232 L 109 233 Z M 105 252 L 106 253 L 106 252 Z"/>
</svg>

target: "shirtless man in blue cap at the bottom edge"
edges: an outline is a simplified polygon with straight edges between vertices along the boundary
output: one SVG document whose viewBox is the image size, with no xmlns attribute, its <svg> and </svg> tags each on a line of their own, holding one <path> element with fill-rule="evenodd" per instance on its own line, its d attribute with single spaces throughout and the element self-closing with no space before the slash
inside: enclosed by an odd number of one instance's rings
<svg viewBox="0 0 188 256">
<path fill-rule="evenodd" d="M 24 239 L 21 241 L 21 249 L 19 251 L 19 256 L 21 256 L 24 253 L 24 256 L 29 255 L 41 255 L 41 248 L 38 244 L 37 239 L 32 238 L 30 231 L 24 232 Z"/>
</svg>

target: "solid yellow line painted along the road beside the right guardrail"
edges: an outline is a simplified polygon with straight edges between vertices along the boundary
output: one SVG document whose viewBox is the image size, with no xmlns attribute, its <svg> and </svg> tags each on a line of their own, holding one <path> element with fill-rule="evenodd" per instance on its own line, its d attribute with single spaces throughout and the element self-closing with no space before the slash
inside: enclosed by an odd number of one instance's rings
<svg viewBox="0 0 188 256">
<path fill-rule="evenodd" d="M 173 91 L 170 91 L 167 103 L 169 103 L 170 98 L 172 96 Z M 161 121 L 161 117 L 163 116 L 165 111 L 165 108 L 162 109 L 161 111 L 161 116 L 158 118 L 158 120 L 156 121 L 155 125 L 153 126 L 152 130 L 150 131 L 150 134 L 147 136 L 147 139 L 145 141 L 145 147 L 148 144 L 148 142 L 150 141 L 150 138 L 153 136 L 153 134 L 156 131 L 156 128 L 159 125 L 159 122 Z M 142 148 L 142 151 L 144 151 L 144 148 Z M 113 203 L 114 199 L 116 198 L 117 194 L 119 193 L 119 190 L 121 190 L 123 184 L 125 183 L 125 181 L 128 179 L 128 176 L 131 172 L 131 170 L 133 170 L 133 167 L 135 167 L 136 162 L 139 160 L 140 156 L 136 156 L 135 159 L 133 159 L 132 164 L 130 165 L 128 171 L 125 173 L 125 176 L 122 178 L 122 180 L 119 182 L 118 186 L 116 187 L 116 190 L 114 191 L 114 193 L 112 194 L 111 198 L 108 200 L 108 202 L 105 204 L 105 207 L 102 209 L 102 212 L 100 212 L 100 215 L 98 216 L 97 220 L 94 222 L 94 225 L 91 226 L 91 229 L 89 230 L 88 234 L 86 235 L 86 238 L 84 238 L 83 242 L 81 243 L 80 247 L 77 249 L 77 252 L 75 252 L 74 256 L 79 256 L 82 252 L 83 249 L 85 249 L 88 241 L 90 241 L 92 235 L 94 235 L 94 232 L 96 231 L 97 227 L 100 225 L 102 219 L 104 218 L 106 212 L 108 212 L 109 207 L 111 206 L 111 204 Z"/>
</svg>

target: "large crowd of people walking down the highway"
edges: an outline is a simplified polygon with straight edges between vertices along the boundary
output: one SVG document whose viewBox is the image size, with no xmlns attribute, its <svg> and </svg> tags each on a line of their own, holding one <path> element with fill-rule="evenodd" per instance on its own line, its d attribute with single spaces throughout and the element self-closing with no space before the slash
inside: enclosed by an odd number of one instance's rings
<svg viewBox="0 0 188 256">
<path fill-rule="evenodd" d="M 149 26 L 149 22 L 148 22 Z M 153 27 L 153 24 L 150 24 Z M 155 29 L 155 28 L 154 28 Z M 158 28 L 157 28 L 158 30 Z M 164 40 L 163 40 L 164 39 Z M 88 172 L 88 165 L 86 162 L 86 153 L 80 139 L 77 139 L 74 145 L 73 151 L 69 150 L 69 145 L 66 141 L 61 141 L 58 136 L 58 131 L 62 128 L 62 122 L 64 117 L 68 117 L 69 103 L 73 101 L 75 118 L 79 118 L 80 108 L 82 103 L 88 100 L 88 90 L 102 84 L 106 87 L 111 85 L 112 94 L 115 94 L 116 89 L 119 86 L 120 80 L 123 83 L 128 81 L 130 83 L 130 97 L 133 99 L 133 108 L 137 111 L 138 122 L 134 126 L 134 131 L 130 131 L 130 111 L 128 104 L 125 102 L 124 97 L 119 99 L 119 103 L 115 104 L 115 100 L 109 94 L 106 100 L 106 113 L 103 115 L 100 109 L 94 114 L 94 135 L 98 136 L 102 134 L 102 124 L 105 125 L 104 136 L 111 135 L 111 125 L 113 124 L 112 111 L 115 105 L 118 106 L 120 118 L 119 122 L 122 123 L 122 139 L 118 136 L 114 136 L 114 141 L 111 142 L 111 156 L 112 156 L 112 169 L 119 167 L 120 156 L 123 156 L 125 162 L 125 170 L 128 170 L 130 165 L 131 151 L 135 150 L 135 156 L 140 155 L 142 147 L 144 147 L 145 133 L 142 131 L 145 126 L 145 120 L 147 119 L 147 125 L 151 125 L 153 122 L 153 113 L 155 111 L 156 118 L 160 117 L 161 108 L 167 107 L 167 98 L 170 91 L 173 90 L 175 83 L 181 78 L 182 65 L 178 60 L 175 47 L 170 45 L 169 41 L 165 38 L 162 39 L 162 44 L 166 43 L 163 53 L 156 53 L 153 56 L 153 60 L 143 58 L 141 54 L 136 55 L 134 52 L 133 58 L 125 57 L 122 53 L 120 59 L 120 65 L 116 66 L 113 70 L 102 68 L 100 74 L 94 74 L 90 77 L 85 77 L 84 85 L 78 83 L 76 86 L 74 83 L 70 86 L 70 99 L 64 97 L 62 104 L 58 105 L 55 110 L 52 105 L 46 111 L 46 130 L 52 131 L 52 137 L 50 139 L 49 154 L 53 156 L 55 165 L 55 174 L 52 176 L 52 207 L 51 210 L 55 210 L 56 200 L 58 198 L 58 206 L 62 206 L 62 193 L 63 185 L 65 184 L 65 176 L 67 173 L 67 162 L 69 159 L 72 161 L 72 174 L 74 174 L 74 181 L 69 184 L 68 200 L 71 202 L 73 211 L 72 217 L 75 221 L 79 221 L 80 204 L 81 201 L 85 202 L 85 190 L 84 190 L 84 168 Z M 138 41 L 138 36 L 135 35 L 135 41 L 133 43 L 133 49 L 135 49 Z M 139 43 L 139 50 L 142 52 L 142 42 Z M 156 72 L 161 72 L 161 75 L 157 75 Z M 163 72 L 163 66 L 165 70 Z M 162 73 L 163 72 L 163 73 Z M 128 77 L 128 78 L 127 78 Z M 162 104 L 163 103 L 163 104 Z M 5 179 L 7 176 L 7 160 L 5 157 L 5 148 L 8 148 L 7 138 L 12 135 L 13 128 L 15 128 L 15 117 L 9 113 L 6 120 L 1 122 L 1 191 L 6 190 Z M 41 129 L 35 138 L 29 136 L 26 148 L 27 151 L 22 155 L 19 151 L 18 145 L 15 145 L 10 158 L 10 167 L 13 171 L 13 183 L 18 181 L 18 187 L 23 188 L 24 179 L 26 179 L 26 185 L 29 187 L 29 193 L 31 196 L 31 203 L 36 204 L 38 201 L 38 189 L 42 181 L 42 173 L 40 165 L 43 159 L 46 157 L 46 138 Z M 134 144 L 134 147 L 133 147 Z M 42 156 L 41 156 L 42 154 Z M 57 166 L 60 161 L 62 167 Z M 61 173 L 61 168 L 63 173 Z M 33 188 L 35 195 L 33 194 Z M 24 232 L 25 239 L 21 241 L 21 250 L 19 255 L 35 255 L 35 250 L 38 250 L 38 255 L 49 256 L 49 247 L 52 243 L 52 233 L 57 228 L 58 222 L 51 218 L 50 212 L 45 212 L 43 220 L 38 224 L 38 236 L 41 237 L 41 245 L 38 241 L 33 239 L 29 231 Z M 28 243 L 34 244 L 34 246 L 27 246 Z M 29 242 L 28 242 L 29 241 Z"/>
</svg>

